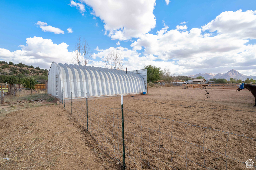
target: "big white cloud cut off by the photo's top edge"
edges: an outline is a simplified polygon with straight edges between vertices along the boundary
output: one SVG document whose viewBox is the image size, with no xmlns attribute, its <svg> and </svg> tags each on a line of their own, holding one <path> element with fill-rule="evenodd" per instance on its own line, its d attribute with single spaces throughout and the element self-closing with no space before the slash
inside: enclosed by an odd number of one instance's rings
<svg viewBox="0 0 256 170">
<path fill-rule="evenodd" d="M 93 9 L 93 15 L 104 22 L 106 34 L 113 40 L 139 37 L 155 28 L 155 0 L 80 0 Z"/>
</svg>

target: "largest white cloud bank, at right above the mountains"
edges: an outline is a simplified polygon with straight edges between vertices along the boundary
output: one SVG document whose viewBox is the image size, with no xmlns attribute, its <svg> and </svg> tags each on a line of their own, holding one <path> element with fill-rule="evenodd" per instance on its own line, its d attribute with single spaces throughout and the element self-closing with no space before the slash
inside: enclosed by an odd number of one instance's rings
<svg viewBox="0 0 256 170">
<path fill-rule="evenodd" d="M 207 30 L 210 33 L 205 32 Z M 140 36 L 131 47 L 133 50 L 144 47 L 143 55 L 171 60 L 179 67 L 193 71 L 207 69 L 205 72 L 218 73 L 237 69 L 254 70 L 255 74 L 256 45 L 246 45 L 249 38 L 256 39 L 255 30 L 255 11 L 227 11 L 202 29 L 187 30 L 186 25 L 177 25 L 176 29 L 168 30 L 164 25 L 156 35 L 147 33 Z M 211 33 L 213 31 L 217 34 Z"/>
</svg>

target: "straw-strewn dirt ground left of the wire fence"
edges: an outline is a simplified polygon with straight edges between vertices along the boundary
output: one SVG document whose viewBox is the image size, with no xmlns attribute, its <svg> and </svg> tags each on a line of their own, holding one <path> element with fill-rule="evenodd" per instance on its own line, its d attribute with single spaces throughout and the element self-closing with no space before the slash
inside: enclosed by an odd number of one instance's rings
<svg viewBox="0 0 256 170">
<path fill-rule="evenodd" d="M 60 105 L 26 108 L 0 117 L 1 169 L 105 169 L 95 162 L 88 133 Z"/>
</svg>

